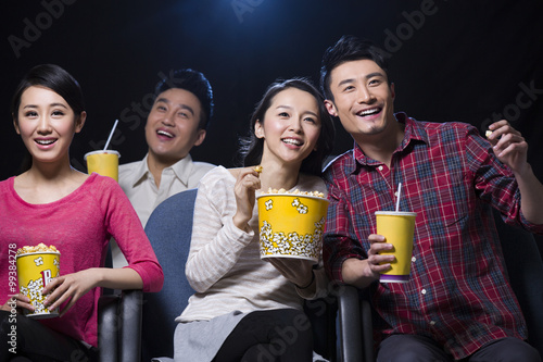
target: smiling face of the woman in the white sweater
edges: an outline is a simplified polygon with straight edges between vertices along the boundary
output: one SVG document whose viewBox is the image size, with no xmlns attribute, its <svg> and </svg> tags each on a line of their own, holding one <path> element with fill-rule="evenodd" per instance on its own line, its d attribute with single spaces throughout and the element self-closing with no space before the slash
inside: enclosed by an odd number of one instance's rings
<svg viewBox="0 0 543 362">
<path fill-rule="evenodd" d="M 275 160 L 300 165 L 316 148 L 320 134 L 317 100 L 308 92 L 287 88 L 278 92 L 255 135 L 264 139 L 262 162 Z"/>
</svg>

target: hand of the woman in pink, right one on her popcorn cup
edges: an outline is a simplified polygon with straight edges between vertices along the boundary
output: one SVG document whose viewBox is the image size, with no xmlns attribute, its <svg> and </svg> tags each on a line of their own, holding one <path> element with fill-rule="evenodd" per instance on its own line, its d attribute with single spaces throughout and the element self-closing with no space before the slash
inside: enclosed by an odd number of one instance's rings
<svg viewBox="0 0 543 362">
<path fill-rule="evenodd" d="M 53 310 L 60 308 L 62 303 L 70 301 L 62 311 L 60 316 L 63 316 L 75 302 L 85 296 L 90 289 L 98 286 L 97 275 L 92 269 L 79 271 L 73 274 L 61 275 L 51 279 L 43 288 L 43 295 L 47 296 L 43 305 Z"/>
</svg>

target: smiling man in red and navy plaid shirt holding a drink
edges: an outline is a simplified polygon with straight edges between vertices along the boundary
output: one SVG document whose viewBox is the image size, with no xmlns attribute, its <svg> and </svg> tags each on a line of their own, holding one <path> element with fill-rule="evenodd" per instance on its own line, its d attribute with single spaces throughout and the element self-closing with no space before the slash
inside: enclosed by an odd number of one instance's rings
<svg viewBox="0 0 543 362">
<path fill-rule="evenodd" d="M 503 120 L 487 140 L 469 124 L 394 114 L 382 52 L 354 37 L 326 51 L 321 86 L 355 141 L 325 171 L 325 266 L 337 283 L 370 288 L 378 361 L 541 361 L 523 341 L 491 210 L 543 233 L 543 185 L 520 133 Z M 392 246 L 375 234 L 375 212 L 394 210 L 399 183 L 400 209 L 417 212 L 412 274 L 382 284 L 394 257 L 379 254 Z"/>
</svg>

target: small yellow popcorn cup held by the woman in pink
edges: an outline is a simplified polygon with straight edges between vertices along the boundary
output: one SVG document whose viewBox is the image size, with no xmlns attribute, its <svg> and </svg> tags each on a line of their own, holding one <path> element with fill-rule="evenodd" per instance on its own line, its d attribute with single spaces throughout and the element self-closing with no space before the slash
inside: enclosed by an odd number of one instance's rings
<svg viewBox="0 0 543 362">
<path fill-rule="evenodd" d="M 30 299 L 34 312 L 25 310 L 28 317 L 36 320 L 59 315 L 59 310 L 43 307 L 46 296 L 41 294 L 49 282 L 60 275 L 60 252 L 38 251 L 16 255 L 18 290 Z"/>
</svg>

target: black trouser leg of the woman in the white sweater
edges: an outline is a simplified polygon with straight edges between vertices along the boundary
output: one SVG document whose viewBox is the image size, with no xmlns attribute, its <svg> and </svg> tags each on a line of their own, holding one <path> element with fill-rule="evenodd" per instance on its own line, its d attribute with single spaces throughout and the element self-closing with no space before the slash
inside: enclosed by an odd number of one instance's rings
<svg viewBox="0 0 543 362">
<path fill-rule="evenodd" d="M 257 311 L 244 316 L 226 338 L 214 362 L 312 361 L 307 316 L 294 309 Z"/>
</svg>

